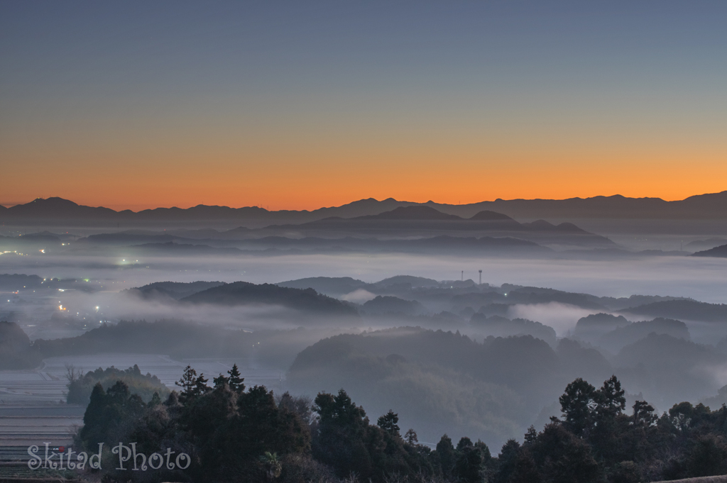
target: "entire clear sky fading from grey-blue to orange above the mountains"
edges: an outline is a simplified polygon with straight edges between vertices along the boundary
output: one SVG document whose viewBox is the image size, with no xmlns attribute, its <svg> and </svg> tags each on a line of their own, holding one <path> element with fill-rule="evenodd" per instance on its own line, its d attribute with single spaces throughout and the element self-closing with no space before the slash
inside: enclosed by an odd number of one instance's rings
<svg viewBox="0 0 727 483">
<path fill-rule="evenodd" d="M 0 203 L 727 190 L 727 2 L 0 1 Z"/>
</svg>

